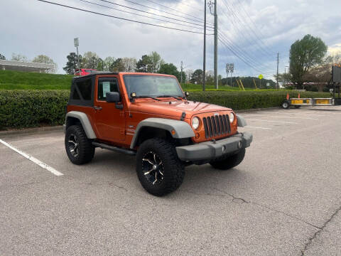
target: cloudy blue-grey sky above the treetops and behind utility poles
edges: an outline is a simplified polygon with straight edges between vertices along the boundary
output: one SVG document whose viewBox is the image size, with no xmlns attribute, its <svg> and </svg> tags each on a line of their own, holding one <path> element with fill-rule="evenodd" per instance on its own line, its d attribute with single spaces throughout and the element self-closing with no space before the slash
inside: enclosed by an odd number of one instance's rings
<svg viewBox="0 0 341 256">
<path fill-rule="evenodd" d="M 101 58 L 114 56 L 139 59 L 141 55 L 155 50 L 167 63 L 180 67 L 180 62 L 183 61 L 187 69 L 202 68 L 203 36 L 200 33 L 203 31 L 201 24 L 204 0 L 48 1 L 199 33 L 123 21 L 37 0 L 1 0 L 0 53 L 7 59 L 11 58 L 12 53 L 21 53 L 28 59 L 45 54 L 58 63 L 58 73 L 63 73 L 66 55 L 75 51 L 73 38 L 79 37 L 80 53 L 91 50 Z M 234 75 L 258 76 L 263 73 L 266 78 L 272 78 L 272 74 L 276 73 L 277 53 L 280 54 L 279 68 L 283 73 L 288 65 L 291 44 L 308 33 L 322 38 L 330 53 L 341 50 L 340 0 L 217 2 L 221 75 L 224 75 L 226 63 L 234 63 Z M 207 22 L 207 26 L 211 26 L 213 22 L 210 9 L 207 9 Z M 211 28 L 207 29 L 207 33 L 211 34 Z M 207 70 L 212 68 L 213 36 L 208 35 Z"/>
</svg>

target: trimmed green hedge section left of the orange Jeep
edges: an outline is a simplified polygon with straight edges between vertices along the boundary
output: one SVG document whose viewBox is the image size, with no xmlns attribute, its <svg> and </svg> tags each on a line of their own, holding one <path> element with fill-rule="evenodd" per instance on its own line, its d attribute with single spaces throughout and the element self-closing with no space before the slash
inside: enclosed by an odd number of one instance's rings
<svg viewBox="0 0 341 256">
<path fill-rule="evenodd" d="M 63 124 L 69 90 L 0 90 L 0 129 Z"/>
</svg>

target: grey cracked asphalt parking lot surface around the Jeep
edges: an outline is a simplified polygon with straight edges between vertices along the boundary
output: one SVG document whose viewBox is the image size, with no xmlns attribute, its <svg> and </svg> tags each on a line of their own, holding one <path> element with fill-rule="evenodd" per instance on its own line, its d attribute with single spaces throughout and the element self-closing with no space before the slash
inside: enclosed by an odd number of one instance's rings
<svg viewBox="0 0 341 256">
<path fill-rule="evenodd" d="M 0 133 L 63 174 L 0 144 L 0 255 L 341 255 L 341 107 L 242 115 L 242 164 L 190 166 L 163 198 L 132 156 L 75 166 L 62 130 Z"/>
</svg>

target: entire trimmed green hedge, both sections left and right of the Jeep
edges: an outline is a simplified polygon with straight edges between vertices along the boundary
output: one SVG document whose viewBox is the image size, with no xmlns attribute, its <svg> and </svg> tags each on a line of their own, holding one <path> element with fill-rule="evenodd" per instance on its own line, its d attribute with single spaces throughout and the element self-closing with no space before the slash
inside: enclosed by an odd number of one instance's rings
<svg viewBox="0 0 341 256">
<path fill-rule="evenodd" d="M 189 100 L 209 102 L 234 110 L 279 107 L 287 92 L 190 92 Z M 0 129 L 63 124 L 69 90 L 0 90 Z M 297 97 L 298 92 L 290 92 Z M 330 97 L 302 92 L 301 97 Z"/>
</svg>

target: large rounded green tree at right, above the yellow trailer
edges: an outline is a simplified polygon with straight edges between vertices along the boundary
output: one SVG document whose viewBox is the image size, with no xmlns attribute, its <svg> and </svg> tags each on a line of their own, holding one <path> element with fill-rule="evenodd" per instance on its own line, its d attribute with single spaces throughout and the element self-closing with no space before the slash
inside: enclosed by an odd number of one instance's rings
<svg viewBox="0 0 341 256">
<path fill-rule="evenodd" d="M 302 87 L 303 76 L 309 72 L 310 68 L 323 63 L 327 50 L 328 47 L 320 38 L 310 35 L 293 43 L 290 49 L 291 81 L 297 83 L 298 87 Z"/>
</svg>

